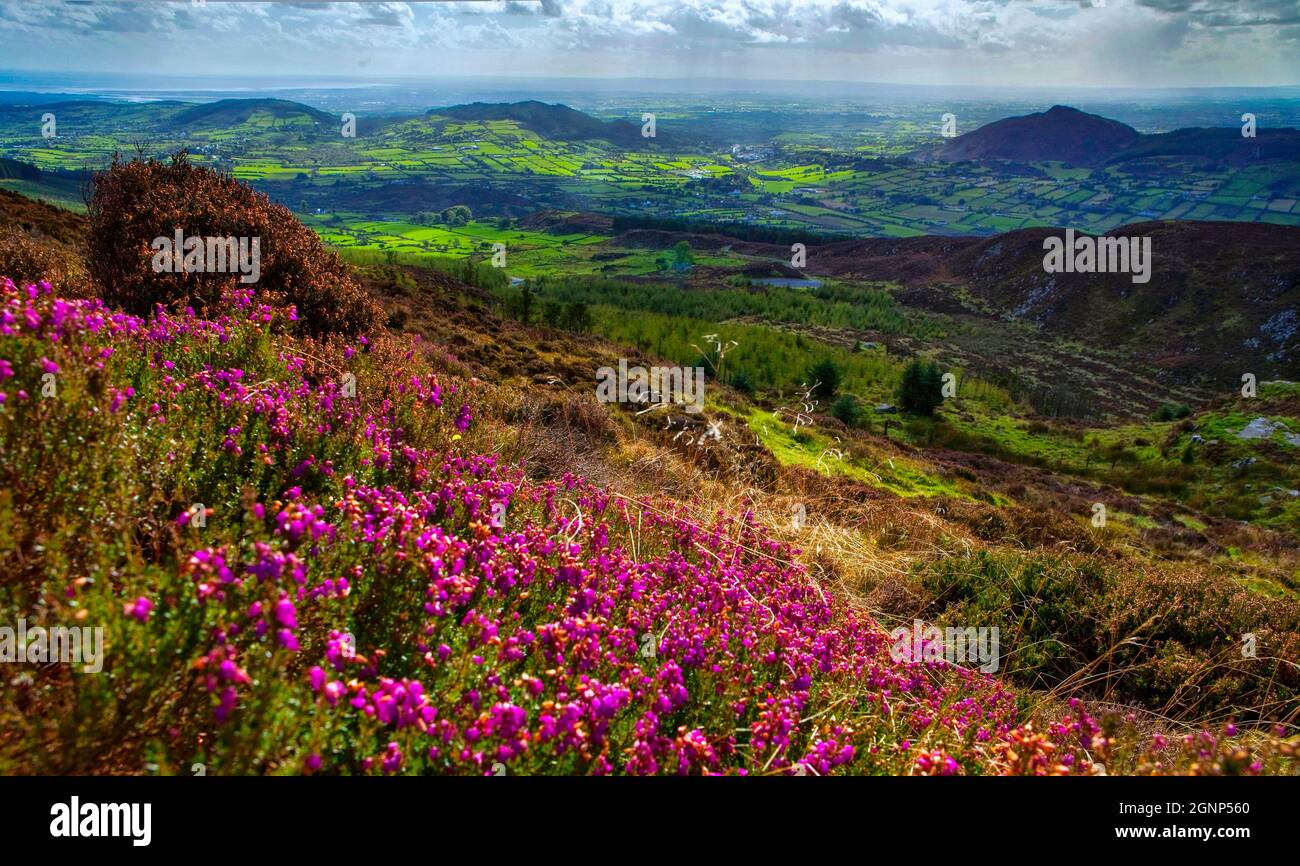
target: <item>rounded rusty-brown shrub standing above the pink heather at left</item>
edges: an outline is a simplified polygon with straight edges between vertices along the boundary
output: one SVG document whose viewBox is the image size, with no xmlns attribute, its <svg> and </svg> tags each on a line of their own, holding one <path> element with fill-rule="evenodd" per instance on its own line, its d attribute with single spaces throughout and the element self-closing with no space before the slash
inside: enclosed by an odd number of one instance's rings
<svg viewBox="0 0 1300 866">
<path fill-rule="evenodd" d="M 260 277 L 155 269 L 155 238 L 259 238 Z M 179 255 L 179 252 L 178 252 Z M 87 260 L 104 300 L 135 315 L 155 304 L 203 312 L 231 286 L 296 309 L 296 329 L 313 335 L 358 334 L 376 326 L 376 304 L 294 215 L 228 174 L 191 164 L 114 160 L 95 177 Z"/>
</svg>

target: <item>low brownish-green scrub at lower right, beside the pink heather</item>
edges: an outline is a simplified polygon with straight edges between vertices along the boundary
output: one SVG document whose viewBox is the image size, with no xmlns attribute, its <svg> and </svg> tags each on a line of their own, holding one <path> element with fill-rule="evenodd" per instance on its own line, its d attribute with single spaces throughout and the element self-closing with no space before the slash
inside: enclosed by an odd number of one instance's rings
<svg viewBox="0 0 1300 866">
<path fill-rule="evenodd" d="M 980 551 L 922 576 L 937 622 L 998 627 L 1002 674 L 1162 713 L 1280 718 L 1300 698 L 1300 606 L 1170 566 Z M 1242 636 L 1256 635 L 1256 657 Z"/>
</svg>

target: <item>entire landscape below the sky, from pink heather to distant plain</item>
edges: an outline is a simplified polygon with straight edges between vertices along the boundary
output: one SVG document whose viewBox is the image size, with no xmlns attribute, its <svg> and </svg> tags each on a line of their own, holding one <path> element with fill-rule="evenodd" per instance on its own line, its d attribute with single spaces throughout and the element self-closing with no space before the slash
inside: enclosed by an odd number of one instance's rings
<svg viewBox="0 0 1300 866">
<path fill-rule="evenodd" d="M 0 772 L 1296 771 L 1300 88 L 354 78 L 6 77 Z"/>
</svg>

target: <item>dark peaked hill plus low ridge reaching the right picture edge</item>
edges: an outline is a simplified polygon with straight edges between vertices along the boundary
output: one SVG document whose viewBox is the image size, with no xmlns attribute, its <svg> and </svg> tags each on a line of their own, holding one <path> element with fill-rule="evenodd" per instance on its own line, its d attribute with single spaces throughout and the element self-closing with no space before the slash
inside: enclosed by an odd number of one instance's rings
<svg viewBox="0 0 1300 866">
<path fill-rule="evenodd" d="M 1258 129 L 1254 138 L 1243 138 L 1239 127 L 1230 126 L 1143 135 L 1119 121 L 1054 105 L 1037 114 L 987 124 L 918 155 L 948 161 L 1057 161 L 1079 166 L 1184 157 L 1240 166 L 1260 160 L 1300 160 L 1300 131 Z"/>
</svg>

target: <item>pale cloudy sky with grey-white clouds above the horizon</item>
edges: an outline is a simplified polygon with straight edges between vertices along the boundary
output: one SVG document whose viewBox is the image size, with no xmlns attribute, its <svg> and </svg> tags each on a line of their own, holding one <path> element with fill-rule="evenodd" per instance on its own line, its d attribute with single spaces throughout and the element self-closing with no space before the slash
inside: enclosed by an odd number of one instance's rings
<svg viewBox="0 0 1300 866">
<path fill-rule="evenodd" d="M 0 68 L 933 85 L 1300 83 L 1300 0 L 0 0 Z"/>
</svg>

